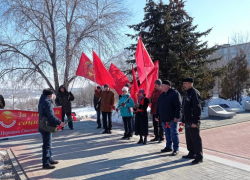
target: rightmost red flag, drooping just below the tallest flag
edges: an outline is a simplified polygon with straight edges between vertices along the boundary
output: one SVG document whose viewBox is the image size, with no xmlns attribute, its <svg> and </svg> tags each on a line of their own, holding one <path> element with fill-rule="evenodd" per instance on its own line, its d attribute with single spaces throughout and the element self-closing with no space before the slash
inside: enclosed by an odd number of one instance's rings
<svg viewBox="0 0 250 180">
<path fill-rule="evenodd" d="M 140 85 L 140 89 L 144 89 L 145 90 L 145 94 L 146 94 L 146 97 L 149 97 L 149 95 L 151 95 L 154 91 L 154 83 L 155 83 L 155 80 L 159 78 L 159 62 L 158 61 L 155 61 L 154 63 L 154 69 L 149 73 L 148 75 L 148 85 L 149 85 L 149 93 L 148 94 L 148 91 L 147 90 L 147 81 L 146 79 L 141 83 Z"/>
</svg>

